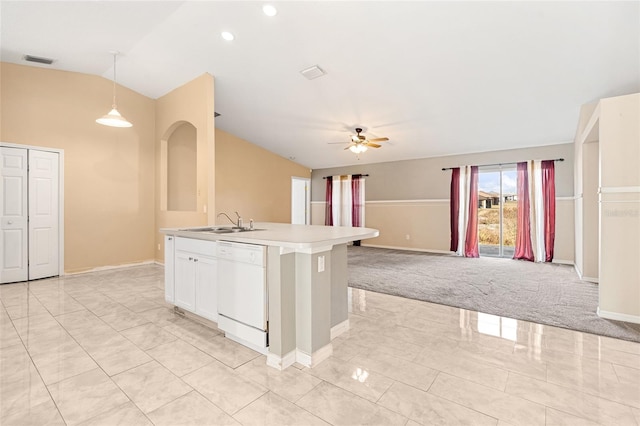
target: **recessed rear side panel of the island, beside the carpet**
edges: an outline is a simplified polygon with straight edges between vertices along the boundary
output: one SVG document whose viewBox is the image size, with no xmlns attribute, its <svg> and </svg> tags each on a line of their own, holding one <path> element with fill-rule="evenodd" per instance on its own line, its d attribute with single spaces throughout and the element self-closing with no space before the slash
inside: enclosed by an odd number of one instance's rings
<svg viewBox="0 0 640 426">
<path fill-rule="evenodd" d="M 347 245 L 331 250 L 331 338 L 349 329 Z"/>
</svg>

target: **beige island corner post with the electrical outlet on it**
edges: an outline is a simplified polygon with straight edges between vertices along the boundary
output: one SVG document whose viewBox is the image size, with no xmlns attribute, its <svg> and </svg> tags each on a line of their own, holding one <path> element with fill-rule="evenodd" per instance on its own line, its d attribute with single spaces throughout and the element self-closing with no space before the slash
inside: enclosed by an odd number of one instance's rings
<svg viewBox="0 0 640 426">
<path fill-rule="evenodd" d="M 324 257 L 324 271 L 318 258 Z M 297 361 L 313 366 L 331 355 L 331 251 L 296 253 Z"/>
</svg>

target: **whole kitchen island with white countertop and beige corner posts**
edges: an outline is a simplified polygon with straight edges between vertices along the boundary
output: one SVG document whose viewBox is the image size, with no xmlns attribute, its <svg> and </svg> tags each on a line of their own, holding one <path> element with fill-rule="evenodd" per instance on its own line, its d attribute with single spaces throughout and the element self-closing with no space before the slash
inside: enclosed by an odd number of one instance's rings
<svg viewBox="0 0 640 426">
<path fill-rule="evenodd" d="M 162 229 L 165 299 L 196 315 L 220 321 L 218 325 L 224 324 L 227 337 L 265 353 L 272 367 L 284 369 L 294 362 L 313 367 L 332 354 L 331 340 L 349 329 L 347 243 L 379 233 L 370 228 L 282 223 L 256 223 L 254 227 L 222 233 L 202 227 Z M 223 314 L 218 317 L 218 308 L 221 313 L 226 308 L 220 305 L 226 302 L 220 302 L 218 295 L 226 297 L 229 292 L 222 289 L 233 283 L 229 274 L 220 275 L 217 270 L 215 250 L 216 246 L 226 250 L 234 243 L 264 248 L 264 345 L 255 344 L 253 336 L 258 336 L 259 330 L 241 323 L 229 325 Z M 255 256 L 251 259 L 254 261 Z M 221 261 L 220 269 L 222 266 Z M 195 278 L 186 291 L 181 290 L 188 297 L 181 298 L 179 281 L 184 276 Z M 219 282 L 221 278 L 224 282 Z M 247 292 L 240 296 L 247 296 Z"/>
</svg>

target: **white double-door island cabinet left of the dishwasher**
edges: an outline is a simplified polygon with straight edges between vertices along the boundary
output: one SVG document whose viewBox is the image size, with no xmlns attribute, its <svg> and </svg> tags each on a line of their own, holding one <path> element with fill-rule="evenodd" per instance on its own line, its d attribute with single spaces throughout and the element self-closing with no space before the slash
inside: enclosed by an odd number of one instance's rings
<svg viewBox="0 0 640 426">
<path fill-rule="evenodd" d="M 167 236 L 168 238 L 174 238 Z M 189 312 L 218 321 L 216 242 L 191 238 L 165 239 L 165 299 Z M 167 247 L 173 242 L 173 257 Z M 173 285 L 172 285 L 173 284 Z M 173 300 L 169 300 L 173 296 Z"/>
</svg>

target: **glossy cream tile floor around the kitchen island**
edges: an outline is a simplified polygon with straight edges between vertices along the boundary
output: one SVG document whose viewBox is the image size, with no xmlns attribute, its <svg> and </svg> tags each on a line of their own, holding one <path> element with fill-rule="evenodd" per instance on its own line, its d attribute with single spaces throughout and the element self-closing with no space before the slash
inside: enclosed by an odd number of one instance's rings
<svg viewBox="0 0 640 426">
<path fill-rule="evenodd" d="M 0 286 L 4 425 L 639 425 L 640 344 L 350 290 L 277 371 L 164 304 L 155 265 Z"/>
</svg>

